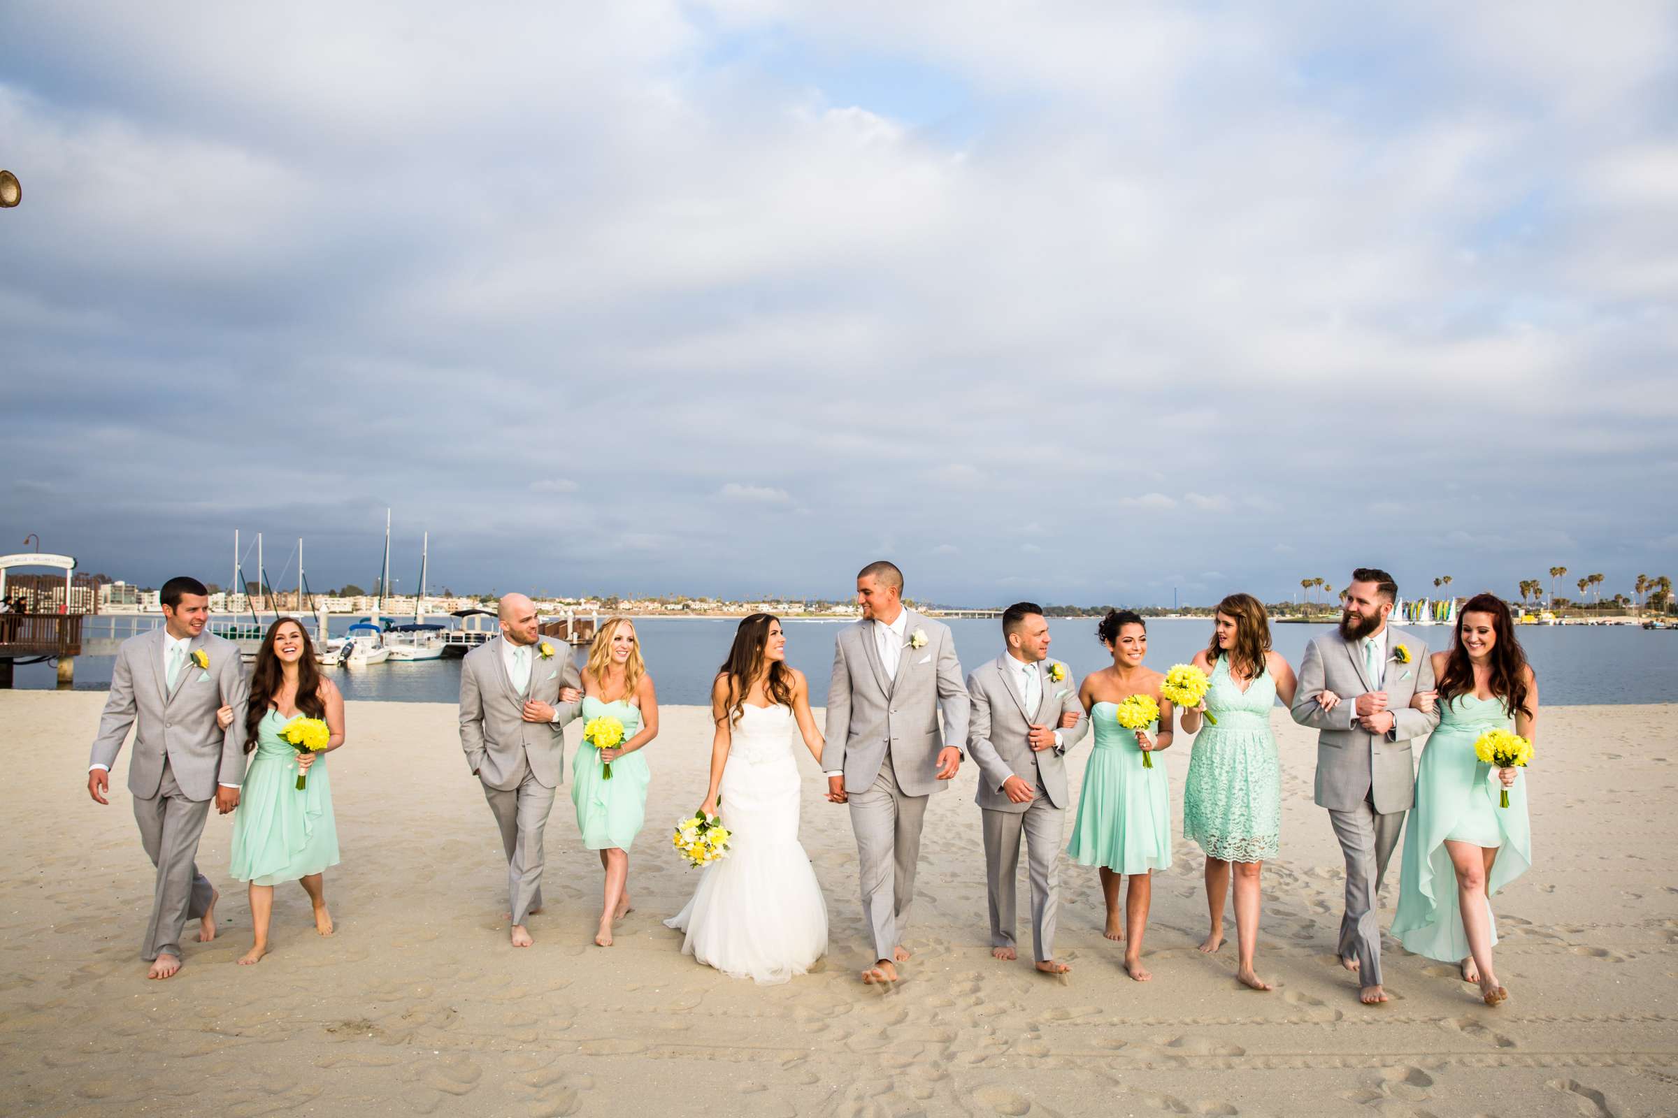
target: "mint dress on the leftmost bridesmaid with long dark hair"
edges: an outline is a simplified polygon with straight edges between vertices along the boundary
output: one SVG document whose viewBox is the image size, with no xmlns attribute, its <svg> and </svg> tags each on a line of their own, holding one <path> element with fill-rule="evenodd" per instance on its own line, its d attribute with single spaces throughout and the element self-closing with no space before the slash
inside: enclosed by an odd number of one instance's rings
<svg viewBox="0 0 1678 1118">
<path fill-rule="evenodd" d="M 294 717 L 302 717 L 294 716 Z M 280 738 L 292 722 L 270 709 L 257 722 L 257 753 L 233 811 L 233 880 L 282 885 L 337 865 L 332 778 L 320 753 L 297 789 L 297 749 Z"/>
</svg>

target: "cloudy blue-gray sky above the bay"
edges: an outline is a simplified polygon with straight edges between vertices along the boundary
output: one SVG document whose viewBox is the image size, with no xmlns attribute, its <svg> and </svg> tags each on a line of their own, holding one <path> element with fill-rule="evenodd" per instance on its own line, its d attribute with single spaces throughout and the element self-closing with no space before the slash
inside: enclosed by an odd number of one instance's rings
<svg viewBox="0 0 1678 1118">
<path fill-rule="evenodd" d="M 367 585 L 391 506 L 403 590 L 423 530 L 455 590 L 1678 575 L 1678 8 L 1389 8 L 13 0 L 0 533 Z"/>
</svg>

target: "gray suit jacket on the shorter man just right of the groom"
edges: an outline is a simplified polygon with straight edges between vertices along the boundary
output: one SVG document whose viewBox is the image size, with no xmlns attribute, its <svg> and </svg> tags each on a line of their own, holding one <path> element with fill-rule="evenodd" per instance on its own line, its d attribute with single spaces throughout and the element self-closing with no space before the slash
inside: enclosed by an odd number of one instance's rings
<svg viewBox="0 0 1678 1118">
<path fill-rule="evenodd" d="M 967 694 L 973 701 L 973 716 L 967 726 L 967 751 L 978 764 L 978 793 L 973 800 L 987 811 L 1025 811 L 1032 806 L 1030 803 L 1014 803 L 1002 791 L 1002 784 L 1010 776 L 1019 776 L 1032 788 L 1032 793 L 1042 784 L 1042 789 L 1049 793 L 1049 803 L 1064 808 L 1067 805 L 1066 761 L 1060 758 L 1089 732 L 1089 716 L 1084 714 L 1084 707 L 1077 701 L 1077 681 L 1072 679 L 1071 669 L 1060 682 L 1049 679 L 1049 667 L 1055 660 L 1037 664 L 1042 697 L 1035 711 L 1027 711 L 1019 675 L 1012 667 L 1015 662 L 1003 652 L 995 660 L 973 669 L 973 674 L 967 677 Z M 1027 741 L 1032 722 L 1059 729 L 1060 714 L 1066 711 L 1077 712 L 1077 724 L 1060 731 L 1060 746 L 1032 749 Z"/>
</svg>

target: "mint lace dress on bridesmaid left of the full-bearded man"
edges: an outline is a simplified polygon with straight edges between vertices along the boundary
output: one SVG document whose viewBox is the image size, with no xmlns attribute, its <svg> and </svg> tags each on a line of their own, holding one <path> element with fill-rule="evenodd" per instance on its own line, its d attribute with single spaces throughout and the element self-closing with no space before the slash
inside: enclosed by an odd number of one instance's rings
<svg viewBox="0 0 1678 1118">
<path fill-rule="evenodd" d="M 1265 862 L 1282 846 L 1282 769 L 1277 764 L 1270 707 L 1275 677 L 1267 670 L 1243 692 L 1220 655 L 1206 689 L 1206 711 L 1183 781 L 1183 838 L 1208 858 Z"/>
</svg>

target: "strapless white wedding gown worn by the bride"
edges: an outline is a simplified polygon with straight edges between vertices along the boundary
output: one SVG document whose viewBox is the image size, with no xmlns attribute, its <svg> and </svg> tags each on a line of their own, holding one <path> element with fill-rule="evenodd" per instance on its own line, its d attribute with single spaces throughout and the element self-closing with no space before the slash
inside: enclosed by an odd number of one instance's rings
<svg viewBox="0 0 1678 1118">
<path fill-rule="evenodd" d="M 732 731 L 717 811 L 728 857 L 700 870 L 693 900 L 668 927 L 681 952 L 765 986 L 804 974 L 827 954 L 827 902 L 799 843 L 799 766 L 792 711 L 745 706 Z"/>
</svg>

